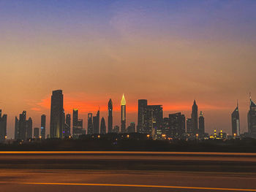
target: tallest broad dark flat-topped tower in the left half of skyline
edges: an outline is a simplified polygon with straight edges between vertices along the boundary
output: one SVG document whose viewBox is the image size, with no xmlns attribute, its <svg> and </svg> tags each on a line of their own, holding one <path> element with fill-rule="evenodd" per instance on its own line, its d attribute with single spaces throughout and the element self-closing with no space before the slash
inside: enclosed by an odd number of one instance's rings
<svg viewBox="0 0 256 192">
<path fill-rule="evenodd" d="M 53 91 L 50 105 L 50 138 L 63 138 L 65 115 L 61 90 Z"/>
</svg>

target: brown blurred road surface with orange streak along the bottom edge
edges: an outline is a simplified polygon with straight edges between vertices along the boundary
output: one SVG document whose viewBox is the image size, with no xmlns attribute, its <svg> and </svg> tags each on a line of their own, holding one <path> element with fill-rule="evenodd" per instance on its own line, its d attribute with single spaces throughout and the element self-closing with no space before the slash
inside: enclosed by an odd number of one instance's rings
<svg viewBox="0 0 256 192">
<path fill-rule="evenodd" d="M 0 191 L 256 191 L 256 174 L 1 169 Z"/>
</svg>

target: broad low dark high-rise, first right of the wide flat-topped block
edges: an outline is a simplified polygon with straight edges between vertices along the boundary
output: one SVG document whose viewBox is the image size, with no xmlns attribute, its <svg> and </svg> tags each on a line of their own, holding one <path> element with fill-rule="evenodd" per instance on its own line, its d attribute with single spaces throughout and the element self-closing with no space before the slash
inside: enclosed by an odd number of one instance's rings
<svg viewBox="0 0 256 192">
<path fill-rule="evenodd" d="M 186 132 L 185 115 L 181 115 L 181 112 L 170 114 L 169 120 L 170 136 L 167 136 L 183 138 Z"/>
</svg>

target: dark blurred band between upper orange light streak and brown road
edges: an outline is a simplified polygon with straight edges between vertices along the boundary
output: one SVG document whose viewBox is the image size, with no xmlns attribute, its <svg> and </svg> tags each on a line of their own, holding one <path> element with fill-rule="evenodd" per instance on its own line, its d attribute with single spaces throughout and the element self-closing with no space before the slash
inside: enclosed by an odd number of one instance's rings
<svg viewBox="0 0 256 192">
<path fill-rule="evenodd" d="M 0 152 L 0 169 L 256 172 L 255 153 Z"/>
</svg>

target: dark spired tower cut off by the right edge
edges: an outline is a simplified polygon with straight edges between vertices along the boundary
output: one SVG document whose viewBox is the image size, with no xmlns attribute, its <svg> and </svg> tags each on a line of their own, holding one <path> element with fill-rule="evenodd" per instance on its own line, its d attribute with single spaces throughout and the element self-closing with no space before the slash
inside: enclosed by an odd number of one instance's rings
<svg viewBox="0 0 256 192">
<path fill-rule="evenodd" d="M 252 101 L 251 95 L 249 98 L 248 132 L 250 137 L 256 138 L 256 104 Z"/>
</svg>

